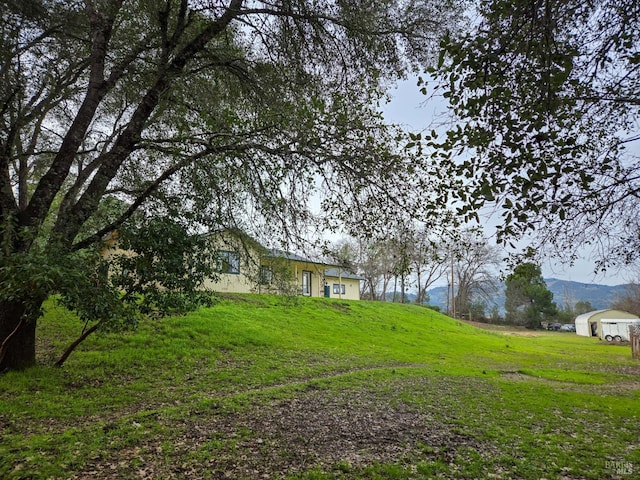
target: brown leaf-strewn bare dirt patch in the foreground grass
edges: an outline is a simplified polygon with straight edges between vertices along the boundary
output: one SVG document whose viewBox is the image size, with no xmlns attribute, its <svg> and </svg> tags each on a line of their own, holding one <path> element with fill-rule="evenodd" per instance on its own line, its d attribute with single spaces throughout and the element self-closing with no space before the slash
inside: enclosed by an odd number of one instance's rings
<svg viewBox="0 0 640 480">
<path fill-rule="evenodd" d="M 456 440 L 436 428 L 432 418 L 405 404 L 392 408 L 364 394 L 347 398 L 321 391 L 281 401 L 268 412 L 256 411 L 245 426 L 261 435 L 249 442 L 252 450 L 267 441 L 274 447 L 269 449 L 270 463 L 280 463 L 278 457 L 292 459 L 294 469 L 392 461 L 409 454 L 418 442 L 441 445 Z"/>
</svg>

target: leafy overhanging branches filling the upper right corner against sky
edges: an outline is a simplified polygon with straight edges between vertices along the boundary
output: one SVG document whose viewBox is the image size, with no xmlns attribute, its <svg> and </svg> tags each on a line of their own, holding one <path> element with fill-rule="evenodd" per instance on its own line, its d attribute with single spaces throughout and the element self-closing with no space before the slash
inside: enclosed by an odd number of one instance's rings
<svg viewBox="0 0 640 480">
<path fill-rule="evenodd" d="M 431 73 L 457 125 L 437 154 L 464 188 L 461 213 L 501 214 L 510 242 L 533 233 L 599 267 L 640 252 L 640 4 L 479 0 Z M 451 192 L 445 192 L 450 195 Z"/>
</svg>

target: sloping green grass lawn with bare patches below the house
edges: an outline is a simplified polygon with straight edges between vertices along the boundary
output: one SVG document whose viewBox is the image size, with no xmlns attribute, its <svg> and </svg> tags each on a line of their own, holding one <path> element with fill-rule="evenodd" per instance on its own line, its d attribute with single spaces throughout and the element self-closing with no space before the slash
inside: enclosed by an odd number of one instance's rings
<svg viewBox="0 0 640 480">
<path fill-rule="evenodd" d="M 628 346 L 410 305 L 237 296 L 0 376 L 0 478 L 640 477 Z"/>
</svg>

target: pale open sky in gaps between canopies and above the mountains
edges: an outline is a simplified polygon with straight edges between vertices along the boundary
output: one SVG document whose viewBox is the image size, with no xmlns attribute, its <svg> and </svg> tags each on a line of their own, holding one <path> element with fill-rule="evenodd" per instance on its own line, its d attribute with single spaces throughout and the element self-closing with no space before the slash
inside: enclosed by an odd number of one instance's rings
<svg viewBox="0 0 640 480">
<path fill-rule="evenodd" d="M 433 123 L 442 121 L 445 103 L 441 99 L 427 97 L 420 93 L 417 79 L 412 78 L 400 82 L 390 91 L 391 101 L 382 108 L 385 119 L 390 123 L 401 125 L 409 131 L 431 130 Z M 485 226 L 486 234 L 490 236 L 492 227 Z M 587 251 L 583 258 L 578 259 L 573 266 L 563 265 L 558 260 L 543 261 L 542 274 L 544 278 L 559 278 L 581 283 L 598 283 L 604 285 L 619 285 L 636 280 L 629 272 L 615 271 L 606 274 L 594 273 L 595 264 L 589 260 Z"/>
</svg>

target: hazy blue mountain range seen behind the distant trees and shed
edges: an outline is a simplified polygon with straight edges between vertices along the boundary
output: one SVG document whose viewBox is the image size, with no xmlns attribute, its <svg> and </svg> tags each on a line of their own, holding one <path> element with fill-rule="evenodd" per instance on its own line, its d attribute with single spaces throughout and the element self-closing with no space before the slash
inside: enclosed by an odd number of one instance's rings
<svg viewBox="0 0 640 480">
<path fill-rule="evenodd" d="M 599 285 L 595 283 L 571 282 L 557 278 L 545 278 L 547 288 L 553 293 L 553 301 L 562 308 L 568 304 L 573 307 L 576 302 L 590 302 L 595 310 L 610 308 L 619 295 L 627 293 L 628 285 Z M 441 309 L 447 308 L 447 287 L 436 287 L 428 291 L 429 303 Z M 495 304 L 504 313 L 504 284 L 500 283 L 492 296 L 492 302 L 487 306 L 487 314 Z"/>
</svg>

